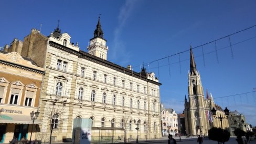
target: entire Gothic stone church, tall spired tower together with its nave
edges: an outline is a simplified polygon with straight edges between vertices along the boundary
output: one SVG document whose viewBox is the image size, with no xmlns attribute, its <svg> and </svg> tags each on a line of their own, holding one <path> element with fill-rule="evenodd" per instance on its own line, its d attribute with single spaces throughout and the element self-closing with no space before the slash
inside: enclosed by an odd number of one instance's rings
<svg viewBox="0 0 256 144">
<path fill-rule="evenodd" d="M 190 72 L 188 73 L 188 100 L 185 97 L 185 126 L 190 135 L 208 135 L 211 127 L 221 127 L 220 119 L 211 114 L 212 107 L 216 107 L 216 116 L 224 116 L 220 106 L 216 105 L 212 95 L 205 98 L 200 74 L 196 69 L 193 52 L 190 48 Z M 229 127 L 228 120 L 222 119 L 223 129 Z"/>
</svg>

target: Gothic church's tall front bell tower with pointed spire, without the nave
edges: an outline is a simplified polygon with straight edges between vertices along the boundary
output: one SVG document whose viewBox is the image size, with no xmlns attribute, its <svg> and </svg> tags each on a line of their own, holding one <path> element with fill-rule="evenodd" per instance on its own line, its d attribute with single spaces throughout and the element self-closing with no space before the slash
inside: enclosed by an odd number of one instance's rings
<svg viewBox="0 0 256 144">
<path fill-rule="evenodd" d="M 200 74 L 196 69 L 193 51 L 190 46 L 190 71 L 188 73 L 188 101 L 185 96 L 186 133 L 190 135 L 205 134 L 209 124 L 206 119 L 204 90 Z"/>
</svg>

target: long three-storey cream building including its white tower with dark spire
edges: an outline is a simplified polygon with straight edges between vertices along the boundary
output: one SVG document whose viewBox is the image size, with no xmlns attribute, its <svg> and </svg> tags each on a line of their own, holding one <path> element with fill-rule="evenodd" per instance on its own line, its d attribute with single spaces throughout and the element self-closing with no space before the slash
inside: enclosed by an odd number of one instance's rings
<svg viewBox="0 0 256 144">
<path fill-rule="evenodd" d="M 31 46 L 34 45 L 34 46 Z M 49 37 L 32 30 L 24 38 L 22 55 L 45 68 L 40 100 L 42 121 L 38 139 L 72 138 L 74 118 L 92 119 L 92 140 L 120 137 L 161 138 L 159 86 L 154 73 L 140 73 L 107 61 L 106 40 L 100 25 L 90 39 L 88 53 L 55 29 Z M 51 116 L 49 116 L 51 114 Z M 126 134 L 125 134 L 126 133 Z"/>
</svg>

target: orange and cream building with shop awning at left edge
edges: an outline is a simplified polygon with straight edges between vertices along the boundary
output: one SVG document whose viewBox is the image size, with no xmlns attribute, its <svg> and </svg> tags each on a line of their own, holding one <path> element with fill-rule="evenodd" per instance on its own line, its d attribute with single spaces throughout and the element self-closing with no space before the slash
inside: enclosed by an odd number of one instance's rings
<svg viewBox="0 0 256 144">
<path fill-rule="evenodd" d="M 30 112 L 38 110 L 43 75 L 44 69 L 30 59 L 0 51 L 0 143 L 35 139 L 40 121 L 32 129 Z"/>
</svg>

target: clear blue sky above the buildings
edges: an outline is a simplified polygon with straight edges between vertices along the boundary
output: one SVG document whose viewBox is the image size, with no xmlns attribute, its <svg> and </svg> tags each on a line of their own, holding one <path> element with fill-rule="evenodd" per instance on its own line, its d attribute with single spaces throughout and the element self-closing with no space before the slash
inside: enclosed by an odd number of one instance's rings
<svg viewBox="0 0 256 144">
<path fill-rule="evenodd" d="M 0 6 L 0 47 L 14 38 L 23 40 L 40 24 L 41 33 L 49 35 L 59 19 L 61 32 L 68 32 L 71 41 L 87 51 L 102 14 L 108 60 L 124 67 L 131 64 L 134 71 L 140 71 L 144 62 L 147 71 L 154 71 L 163 83 L 161 101 L 178 113 L 188 95 L 189 53 L 150 62 L 256 25 L 256 1 L 0 1 Z M 194 49 L 205 95 L 208 89 L 217 104 L 238 110 L 254 126 L 255 37 L 253 27 L 231 35 L 230 41 L 216 41 L 216 47 L 210 43 Z M 210 53 L 216 48 L 217 54 Z"/>
</svg>

